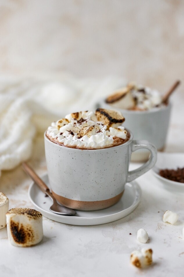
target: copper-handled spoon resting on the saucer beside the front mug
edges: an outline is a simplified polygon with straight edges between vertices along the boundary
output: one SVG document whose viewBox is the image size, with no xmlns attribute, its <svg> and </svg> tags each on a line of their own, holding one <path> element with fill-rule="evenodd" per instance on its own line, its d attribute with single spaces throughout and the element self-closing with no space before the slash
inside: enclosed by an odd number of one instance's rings
<svg viewBox="0 0 184 277">
<path fill-rule="evenodd" d="M 50 207 L 50 211 L 53 213 L 57 213 L 58 215 L 75 215 L 76 211 L 69 209 L 64 206 L 60 206 L 56 199 L 53 197 L 47 185 L 40 179 L 40 177 L 35 173 L 35 171 L 29 166 L 26 162 L 22 163 L 22 167 L 24 171 L 35 181 L 35 184 L 40 188 L 42 192 L 47 194 L 53 201 L 52 206 Z"/>
</svg>

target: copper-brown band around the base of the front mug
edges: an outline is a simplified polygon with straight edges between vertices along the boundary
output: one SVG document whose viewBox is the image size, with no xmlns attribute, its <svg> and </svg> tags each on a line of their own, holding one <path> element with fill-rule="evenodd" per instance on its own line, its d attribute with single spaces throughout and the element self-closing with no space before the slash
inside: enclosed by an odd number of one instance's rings
<svg viewBox="0 0 184 277">
<path fill-rule="evenodd" d="M 124 191 L 120 194 L 106 200 L 100 201 L 78 201 L 62 197 L 52 191 L 53 196 L 56 198 L 57 202 L 61 205 L 79 211 L 96 211 L 108 208 L 116 204 L 122 197 Z"/>
</svg>

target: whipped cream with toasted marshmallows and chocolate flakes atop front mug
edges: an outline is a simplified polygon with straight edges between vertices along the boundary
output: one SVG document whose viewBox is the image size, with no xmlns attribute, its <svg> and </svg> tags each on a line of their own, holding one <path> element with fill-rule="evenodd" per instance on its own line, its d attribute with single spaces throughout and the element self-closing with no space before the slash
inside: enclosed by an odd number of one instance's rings
<svg viewBox="0 0 184 277">
<path fill-rule="evenodd" d="M 127 141 L 120 112 L 98 108 L 96 112 L 81 111 L 52 122 L 47 137 L 58 144 L 80 149 L 108 148 Z"/>
</svg>

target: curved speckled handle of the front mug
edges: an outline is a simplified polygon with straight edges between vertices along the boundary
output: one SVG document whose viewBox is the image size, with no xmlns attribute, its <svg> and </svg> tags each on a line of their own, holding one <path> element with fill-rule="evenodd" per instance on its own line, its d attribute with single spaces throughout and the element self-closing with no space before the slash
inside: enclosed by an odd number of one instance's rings
<svg viewBox="0 0 184 277">
<path fill-rule="evenodd" d="M 156 163 L 157 160 L 157 150 L 156 147 L 152 144 L 149 143 L 148 141 L 144 140 L 133 140 L 132 141 L 132 146 L 131 146 L 131 152 L 134 152 L 138 149 L 141 148 L 146 148 L 150 151 L 150 157 L 149 160 L 140 166 L 139 168 L 128 171 L 128 178 L 127 182 L 133 181 L 135 178 L 141 176 L 142 174 L 146 173 L 148 170 L 150 170 Z"/>
</svg>

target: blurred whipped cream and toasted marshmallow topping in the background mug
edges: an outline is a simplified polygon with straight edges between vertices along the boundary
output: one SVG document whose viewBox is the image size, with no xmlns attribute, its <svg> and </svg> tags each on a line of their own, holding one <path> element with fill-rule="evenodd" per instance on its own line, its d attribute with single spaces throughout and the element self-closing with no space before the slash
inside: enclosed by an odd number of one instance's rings
<svg viewBox="0 0 184 277">
<path fill-rule="evenodd" d="M 126 87 L 115 91 L 106 98 L 106 103 L 115 108 L 140 111 L 164 106 L 162 96 L 158 90 L 135 85 L 134 83 L 129 83 Z"/>
</svg>

